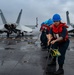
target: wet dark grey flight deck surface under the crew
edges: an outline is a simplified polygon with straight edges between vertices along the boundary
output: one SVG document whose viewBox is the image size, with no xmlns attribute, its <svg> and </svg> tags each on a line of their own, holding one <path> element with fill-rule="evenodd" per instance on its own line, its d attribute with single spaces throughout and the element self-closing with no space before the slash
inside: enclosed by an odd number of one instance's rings
<svg viewBox="0 0 74 75">
<path fill-rule="evenodd" d="M 74 75 L 74 38 L 70 38 L 70 41 L 64 75 Z M 45 73 L 46 56 L 47 51 L 41 49 L 40 41 L 36 41 L 36 38 L 0 38 L 0 75 L 51 75 Z M 49 71 L 52 69 L 48 68 Z"/>
</svg>

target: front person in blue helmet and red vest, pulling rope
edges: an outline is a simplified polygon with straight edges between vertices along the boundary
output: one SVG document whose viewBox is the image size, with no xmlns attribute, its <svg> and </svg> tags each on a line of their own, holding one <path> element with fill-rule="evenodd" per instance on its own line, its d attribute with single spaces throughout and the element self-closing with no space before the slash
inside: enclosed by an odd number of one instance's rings
<svg viewBox="0 0 74 75">
<path fill-rule="evenodd" d="M 48 38 L 48 44 L 52 45 L 53 49 L 58 49 L 61 53 L 61 56 L 58 57 L 59 69 L 54 73 L 55 75 L 64 74 L 63 64 L 65 60 L 66 50 L 69 46 L 69 38 L 68 38 L 68 26 L 65 23 L 61 22 L 61 17 L 59 14 L 53 15 L 53 22 Z M 53 62 L 51 64 L 56 64 L 56 57 L 54 57 Z"/>
</svg>

